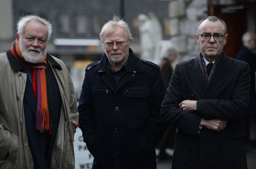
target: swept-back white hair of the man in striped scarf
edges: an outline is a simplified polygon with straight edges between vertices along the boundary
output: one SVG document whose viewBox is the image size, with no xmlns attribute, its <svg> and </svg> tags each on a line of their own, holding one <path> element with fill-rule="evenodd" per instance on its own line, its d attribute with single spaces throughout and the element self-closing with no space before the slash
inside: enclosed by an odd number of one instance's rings
<svg viewBox="0 0 256 169">
<path fill-rule="evenodd" d="M 23 31 L 24 31 L 24 27 L 31 21 L 37 21 L 42 23 L 43 25 L 45 25 L 48 35 L 47 35 L 47 40 L 49 40 L 51 38 L 52 35 L 52 24 L 44 19 L 41 18 L 39 16 L 36 15 L 24 15 L 21 16 L 17 22 L 17 30 L 18 30 L 18 34 L 22 37 Z"/>
</svg>

